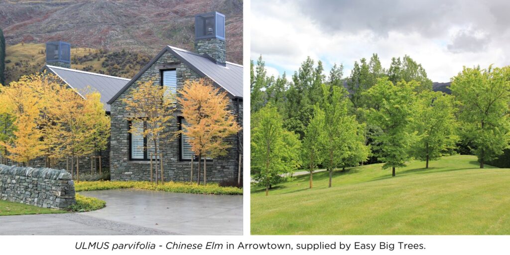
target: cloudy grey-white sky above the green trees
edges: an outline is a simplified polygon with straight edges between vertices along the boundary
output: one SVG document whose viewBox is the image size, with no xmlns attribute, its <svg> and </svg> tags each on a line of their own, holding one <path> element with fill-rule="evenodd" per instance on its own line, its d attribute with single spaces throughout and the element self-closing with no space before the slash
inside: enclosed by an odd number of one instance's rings
<svg viewBox="0 0 510 255">
<path fill-rule="evenodd" d="M 262 54 L 268 73 L 292 74 L 307 56 L 326 73 L 377 53 L 410 55 L 434 82 L 463 66 L 510 64 L 510 1 L 258 0 L 251 2 L 251 59 Z"/>
</svg>

